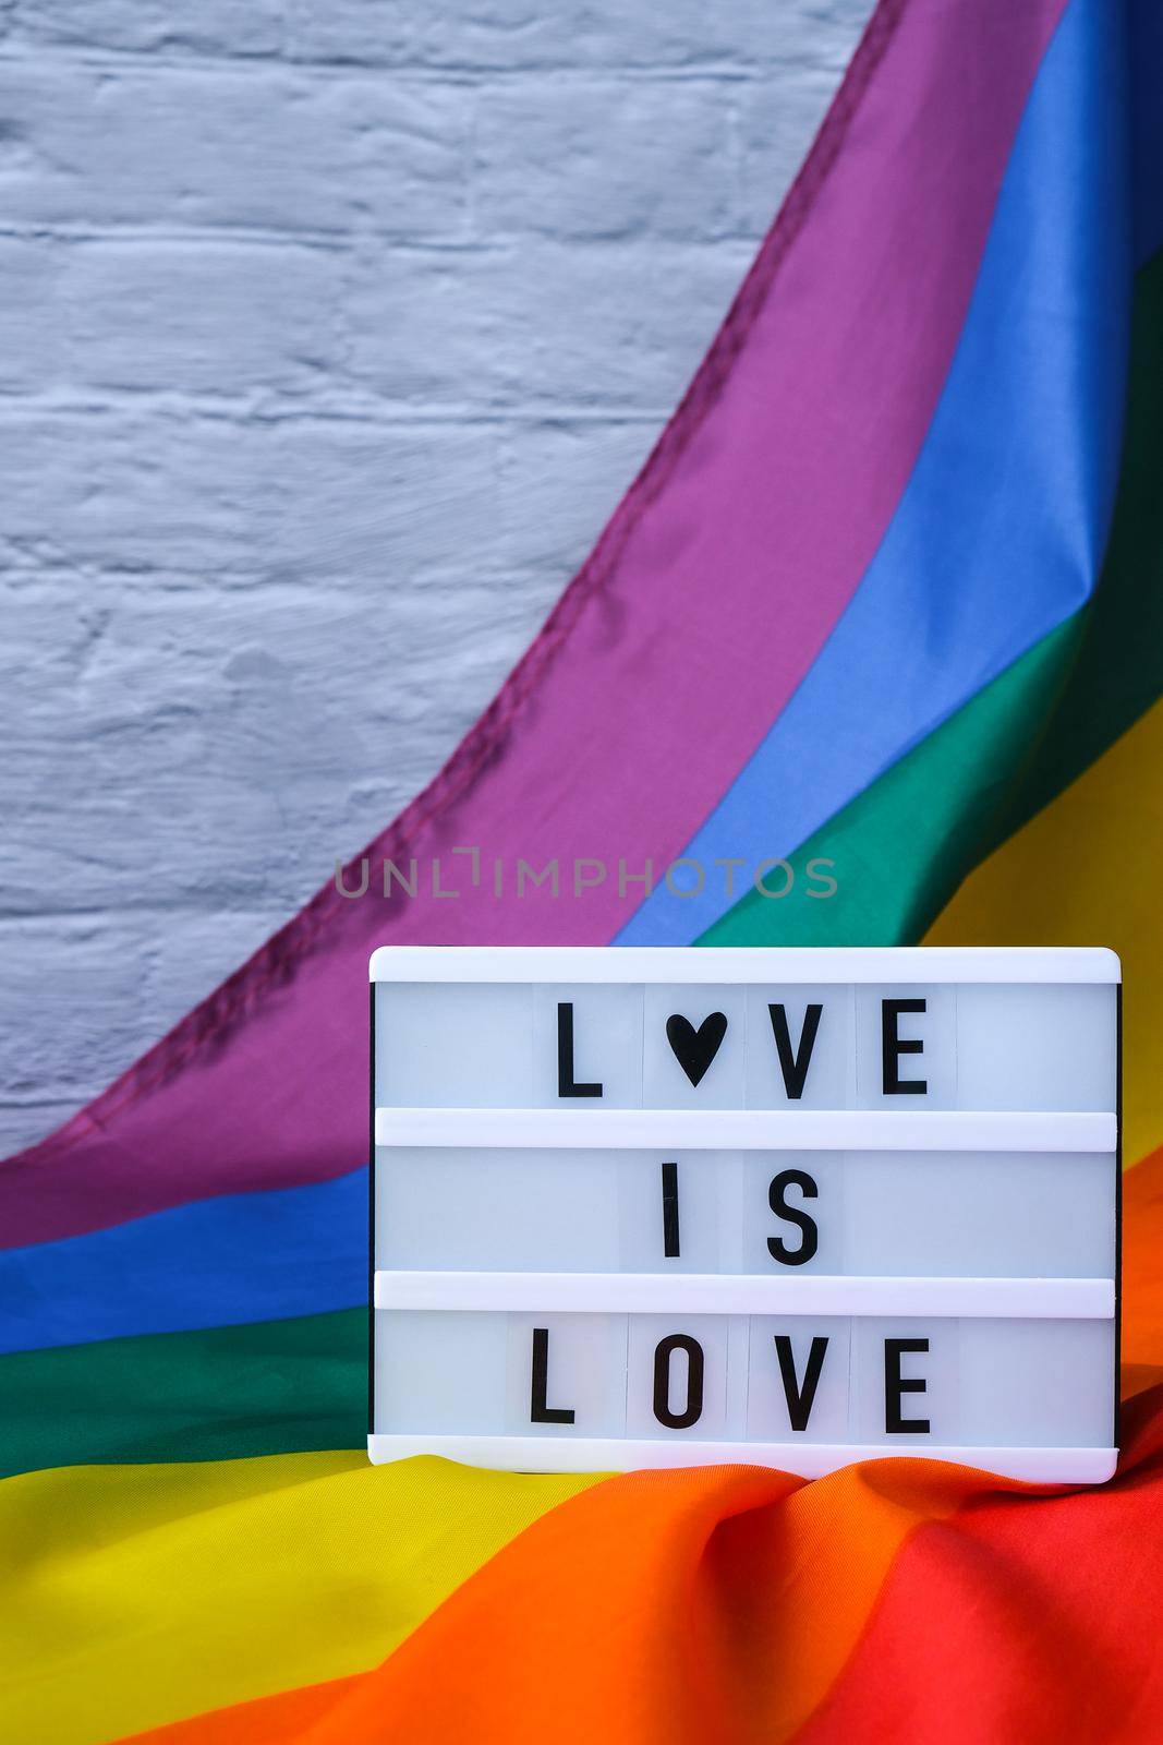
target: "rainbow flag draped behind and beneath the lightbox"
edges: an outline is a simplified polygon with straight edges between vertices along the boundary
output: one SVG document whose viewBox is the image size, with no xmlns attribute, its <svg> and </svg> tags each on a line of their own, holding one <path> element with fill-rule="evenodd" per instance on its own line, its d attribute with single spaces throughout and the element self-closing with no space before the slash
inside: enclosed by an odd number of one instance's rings
<svg viewBox="0 0 1163 1745">
<path fill-rule="evenodd" d="M 1163 1738 L 1161 89 L 1160 0 L 881 0 L 446 768 L 0 1169 L 0 1736 Z M 1118 1478 L 368 1466 L 408 941 L 1114 946 Z"/>
</svg>

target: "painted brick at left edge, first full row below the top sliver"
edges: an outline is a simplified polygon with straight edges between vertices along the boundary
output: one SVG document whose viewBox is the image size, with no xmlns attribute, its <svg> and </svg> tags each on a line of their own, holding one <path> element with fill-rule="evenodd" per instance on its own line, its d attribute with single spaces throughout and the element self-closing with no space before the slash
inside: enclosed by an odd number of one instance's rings
<svg viewBox="0 0 1163 1745">
<path fill-rule="evenodd" d="M 469 92 L 241 63 L 0 63 L 5 222 L 459 236 Z"/>
</svg>

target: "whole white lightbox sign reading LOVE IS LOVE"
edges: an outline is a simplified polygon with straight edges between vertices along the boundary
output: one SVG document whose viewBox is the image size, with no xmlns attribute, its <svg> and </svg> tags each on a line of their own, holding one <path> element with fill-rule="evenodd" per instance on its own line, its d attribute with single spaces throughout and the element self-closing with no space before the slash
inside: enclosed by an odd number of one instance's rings
<svg viewBox="0 0 1163 1745">
<path fill-rule="evenodd" d="M 371 958 L 373 1461 L 1118 1454 L 1105 949 Z"/>
</svg>

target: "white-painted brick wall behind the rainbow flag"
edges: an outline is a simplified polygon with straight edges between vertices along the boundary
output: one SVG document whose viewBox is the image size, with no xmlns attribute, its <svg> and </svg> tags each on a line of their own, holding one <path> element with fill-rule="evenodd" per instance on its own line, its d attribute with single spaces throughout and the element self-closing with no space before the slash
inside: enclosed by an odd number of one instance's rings
<svg viewBox="0 0 1163 1745">
<path fill-rule="evenodd" d="M 0 5 L 0 1150 L 436 771 L 868 10 Z"/>
</svg>

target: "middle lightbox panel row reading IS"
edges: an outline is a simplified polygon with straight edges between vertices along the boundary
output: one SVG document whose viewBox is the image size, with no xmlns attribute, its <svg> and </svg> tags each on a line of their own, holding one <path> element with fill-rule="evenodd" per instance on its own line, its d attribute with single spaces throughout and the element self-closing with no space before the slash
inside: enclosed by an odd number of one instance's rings
<svg viewBox="0 0 1163 1745">
<path fill-rule="evenodd" d="M 1114 1167 L 1053 1152 L 382 1148 L 377 1263 L 1114 1277 Z"/>
</svg>

